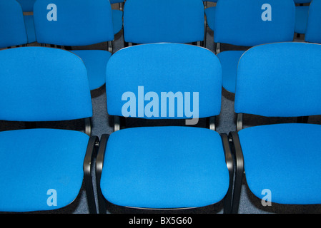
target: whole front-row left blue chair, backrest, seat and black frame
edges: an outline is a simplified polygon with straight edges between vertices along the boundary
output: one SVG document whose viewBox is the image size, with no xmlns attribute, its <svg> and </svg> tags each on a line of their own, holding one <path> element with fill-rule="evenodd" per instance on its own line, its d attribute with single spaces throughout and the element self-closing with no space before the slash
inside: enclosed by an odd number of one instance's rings
<svg viewBox="0 0 321 228">
<path fill-rule="evenodd" d="M 10 48 L 0 51 L 0 74 L 1 120 L 40 124 L 84 118 L 88 129 L 1 131 L 0 211 L 66 207 L 84 182 L 89 212 L 96 212 L 90 164 L 99 139 L 89 136 L 92 100 L 82 60 L 58 48 Z"/>
</svg>

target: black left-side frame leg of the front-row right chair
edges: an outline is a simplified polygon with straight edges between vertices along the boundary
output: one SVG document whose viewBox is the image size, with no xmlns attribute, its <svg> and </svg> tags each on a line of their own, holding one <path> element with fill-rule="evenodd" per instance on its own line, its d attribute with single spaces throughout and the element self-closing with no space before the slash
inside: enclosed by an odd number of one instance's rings
<svg viewBox="0 0 321 228">
<path fill-rule="evenodd" d="M 241 143 L 239 142 L 239 135 L 237 132 L 230 132 L 229 139 L 232 142 L 232 152 L 235 157 L 235 180 L 232 199 L 232 213 L 237 214 L 239 210 L 239 199 L 241 197 L 242 180 L 244 175 L 244 157 L 242 152 Z"/>
</svg>

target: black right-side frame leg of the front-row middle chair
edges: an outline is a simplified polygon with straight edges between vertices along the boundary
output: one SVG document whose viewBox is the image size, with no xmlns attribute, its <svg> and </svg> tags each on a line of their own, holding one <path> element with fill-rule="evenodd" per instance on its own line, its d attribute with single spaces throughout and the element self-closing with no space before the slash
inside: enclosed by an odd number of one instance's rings
<svg viewBox="0 0 321 228">
<path fill-rule="evenodd" d="M 234 160 L 232 157 L 231 148 L 229 147 L 229 139 L 227 134 L 220 134 L 222 138 L 222 145 L 225 155 L 225 162 L 229 170 L 229 190 L 224 197 L 224 214 L 232 213 L 232 195 L 233 195 L 233 182 L 234 182 Z"/>
</svg>

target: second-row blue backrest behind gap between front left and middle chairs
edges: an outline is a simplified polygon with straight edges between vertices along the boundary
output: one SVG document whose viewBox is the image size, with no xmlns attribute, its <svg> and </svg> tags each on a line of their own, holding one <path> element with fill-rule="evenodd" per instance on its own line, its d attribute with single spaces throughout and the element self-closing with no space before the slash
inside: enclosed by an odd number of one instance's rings
<svg viewBox="0 0 321 228">
<path fill-rule="evenodd" d="M 39 43 L 85 46 L 114 40 L 112 6 L 106 0 L 37 0 L 34 24 Z"/>
</svg>

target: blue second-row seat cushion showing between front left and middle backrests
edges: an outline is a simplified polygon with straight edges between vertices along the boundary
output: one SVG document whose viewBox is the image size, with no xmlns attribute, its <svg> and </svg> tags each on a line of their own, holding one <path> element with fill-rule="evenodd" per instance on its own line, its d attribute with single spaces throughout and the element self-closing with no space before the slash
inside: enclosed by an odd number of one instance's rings
<svg viewBox="0 0 321 228">
<path fill-rule="evenodd" d="M 89 88 L 97 89 L 106 81 L 106 67 L 112 53 L 104 50 L 74 50 L 72 53 L 82 58 L 87 68 Z"/>
</svg>

